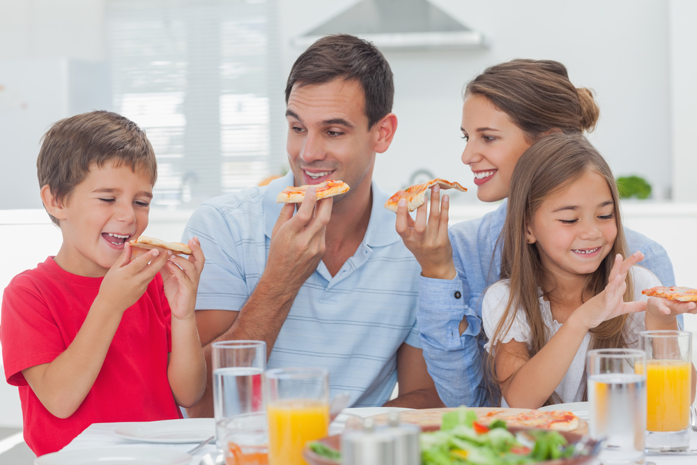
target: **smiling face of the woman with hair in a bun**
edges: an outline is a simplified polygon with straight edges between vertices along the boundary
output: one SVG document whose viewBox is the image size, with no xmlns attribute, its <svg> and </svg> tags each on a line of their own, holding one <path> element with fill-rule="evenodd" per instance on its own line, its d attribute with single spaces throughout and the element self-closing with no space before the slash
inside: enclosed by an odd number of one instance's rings
<svg viewBox="0 0 697 465">
<path fill-rule="evenodd" d="M 479 95 L 465 98 L 460 129 L 467 142 L 462 162 L 475 174 L 477 198 L 497 201 L 508 197 L 513 169 L 532 145 L 523 131 L 491 100 Z"/>
</svg>

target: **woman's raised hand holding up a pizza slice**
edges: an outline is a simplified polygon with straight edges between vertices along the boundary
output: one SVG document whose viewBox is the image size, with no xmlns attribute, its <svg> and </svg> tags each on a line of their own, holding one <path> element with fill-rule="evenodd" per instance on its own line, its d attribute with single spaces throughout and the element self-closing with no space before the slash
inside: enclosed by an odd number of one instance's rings
<svg viewBox="0 0 697 465">
<path fill-rule="evenodd" d="M 427 204 L 416 209 L 416 220 L 406 211 L 406 200 L 397 204 L 397 234 L 401 236 L 406 248 L 414 254 L 421 265 L 424 277 L 452 280 L 457 272 L 452 261 L 452 246 L 447 236 L 448 197 L 443 196 L 439 206 L 441 188 L 437 184 L 431 188 L 431 215 L 427 222 Z"/>
</svg>

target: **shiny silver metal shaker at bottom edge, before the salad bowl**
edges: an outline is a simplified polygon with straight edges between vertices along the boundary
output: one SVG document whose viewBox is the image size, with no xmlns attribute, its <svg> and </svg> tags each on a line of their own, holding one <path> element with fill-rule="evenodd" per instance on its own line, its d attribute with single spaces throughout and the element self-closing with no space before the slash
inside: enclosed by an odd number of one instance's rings
<svg viewBox="0 0 697 465">
<path fill-rule="evenodd" d="M 342 434 L 342 464 L 395 465 L 395 435 L 386 428 L 375 429 L 371 419 L 363 425 Z"/>
</svg>

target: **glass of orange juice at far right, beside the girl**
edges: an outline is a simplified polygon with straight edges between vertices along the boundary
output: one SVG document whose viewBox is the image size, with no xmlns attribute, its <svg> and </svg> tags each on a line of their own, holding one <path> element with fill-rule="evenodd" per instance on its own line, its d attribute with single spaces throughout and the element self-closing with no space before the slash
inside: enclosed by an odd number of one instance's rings
<svg viewBox="0 0 697 465">
<path fill-rule="evenodd" d="M 685 450 L 690 445 L 692 334 L 642 331 L 646 351 L 646 448 Z"/>
</svg>

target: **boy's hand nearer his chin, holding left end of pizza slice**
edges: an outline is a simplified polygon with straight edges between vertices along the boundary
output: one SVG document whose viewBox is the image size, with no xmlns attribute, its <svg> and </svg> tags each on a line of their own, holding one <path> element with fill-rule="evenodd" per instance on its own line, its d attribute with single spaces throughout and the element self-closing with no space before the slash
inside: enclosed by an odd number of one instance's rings
<svg viewBox="0 0 697 465">
<path fill-rule="evenodd" d="M 149 250 L 133 261 L 131 254 L 130 244 L 125 243 L 121 257 L 107 271 L 95 299 L 122 313 L 141 298 L 153 277 L 167 263 L 167 254 L 159 250 Z"/>
</svg>

